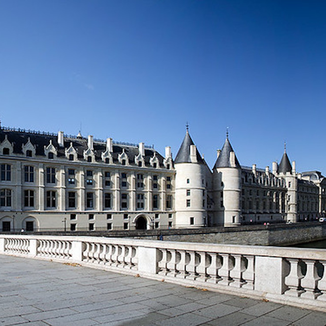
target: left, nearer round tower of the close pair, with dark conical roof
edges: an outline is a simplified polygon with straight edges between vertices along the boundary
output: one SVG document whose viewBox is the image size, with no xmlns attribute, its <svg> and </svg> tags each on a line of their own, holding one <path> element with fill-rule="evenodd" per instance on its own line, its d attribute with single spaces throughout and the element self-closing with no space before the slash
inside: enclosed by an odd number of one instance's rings
<svg viewBox="0 0 326 326">
<path fill-rule="evenodd" d="M 175 227 L 198 228 L 206 225 L 205 163 L 192 141 L 188 126 L 174 160 Z"/>
</svg>

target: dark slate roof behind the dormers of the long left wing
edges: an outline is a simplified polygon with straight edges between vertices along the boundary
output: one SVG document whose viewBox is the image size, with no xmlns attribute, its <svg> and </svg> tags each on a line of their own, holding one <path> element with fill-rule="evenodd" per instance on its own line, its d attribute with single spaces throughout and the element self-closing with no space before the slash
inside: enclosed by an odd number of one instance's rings
<svg viewBox="0 0 326 326">
<path fill-rule="evenodd" d="M 87 146 L 87 138 L 71 138 L 64 137 L 64 147 L 58 146 L 57 136 L 54 134 L 41 134 L 41 133 L 29 133 L 25 131 L 12 131 L 12 130 L 3 130 L 0 129 L 0 141 L 4 141 L 5 136 L 7 135 L 8 141 L 13 144 L 13 151 L 15 154 L 23 154 L 22 153 L 22 145 L 28 142 L 28 138 L 31 143 L 36 147 L 36 155 L 37 156 L 45 156 L 44 154 L 44 146 L 48 146 L 50 144 L 50 140 L 52 141 L 52 145 L 56 148 L 58 157 L 65 157 L 65 148 L 70 147 L 70 143 L 77 151 L 78 159 L 83 159 L 83 152 L 88 149 Z M 94 154 L 96 161 L 101 162 L 101 154 L 106 151 L 106 143 L 105 142 L 97 142 L 94 141 Z M 126 155 L 129 159 L 129 164 L 134 164 L 135 156 L 139 154 L 138 146 L 131 145 L 121 145 L 113 143 L 113 163 L 118 162 L 118 155 L 122 153 L 123 149 L 125 150 Z M 160 166 L 163 165 L 163 156 L 156 152 L 154 148 L 145 148 L 145 166 L 150 165 L 150 158 L 154 156 L 156 153 L 156 157 L 159 161 Z"/>
</svg>

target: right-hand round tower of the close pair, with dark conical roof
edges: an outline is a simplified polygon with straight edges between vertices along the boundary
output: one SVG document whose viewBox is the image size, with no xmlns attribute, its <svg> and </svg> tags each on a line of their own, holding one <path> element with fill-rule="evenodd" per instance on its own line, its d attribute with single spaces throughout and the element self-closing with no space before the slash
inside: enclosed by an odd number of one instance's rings
<svg viewBox="0 0 326 326">
<path fill-rule="evenodd" d="M 241 167 L 229 141 L 228 133 L 213 169 L 215 224 L 235 226 L 241 215 Z"/>
</svg>

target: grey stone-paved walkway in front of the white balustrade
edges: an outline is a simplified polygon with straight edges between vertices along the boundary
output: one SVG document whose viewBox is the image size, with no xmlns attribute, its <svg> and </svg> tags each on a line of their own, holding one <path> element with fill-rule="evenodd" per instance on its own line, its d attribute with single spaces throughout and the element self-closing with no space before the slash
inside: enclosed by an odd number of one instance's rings
<svg viewBox="0 0 326 326">
<path fill-rule="evenodd" d="M 326 313 L 0 255 L 0 325 L 325 325 Z"/>
</svg>

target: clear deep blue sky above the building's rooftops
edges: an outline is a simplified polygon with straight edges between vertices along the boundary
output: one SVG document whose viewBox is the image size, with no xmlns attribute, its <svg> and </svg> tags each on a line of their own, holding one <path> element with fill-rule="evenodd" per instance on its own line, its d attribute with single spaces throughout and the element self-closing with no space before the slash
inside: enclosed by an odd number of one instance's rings
<svg viewBox="0 0 326 326">
<path fill-rule="evenodd" d="M 155 144 L 185 124 L 210 167 L 230 141 L 326 174 L 326 2 L 1 0 L 4 126 Z"/>
</svg>

